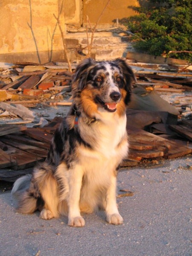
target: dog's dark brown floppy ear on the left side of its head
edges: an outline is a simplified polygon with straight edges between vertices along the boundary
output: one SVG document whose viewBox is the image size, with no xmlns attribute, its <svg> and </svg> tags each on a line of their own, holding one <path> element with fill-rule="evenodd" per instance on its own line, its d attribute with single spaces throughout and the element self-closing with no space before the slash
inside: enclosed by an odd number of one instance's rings
<svg viewBox="0 0 192 256">
<path fill-rule="evenodd" d="M 72 76 L 72 83 L 76 83 L 77 90 L 82 90 L 85 87 L 88 73 L 95 63 L 96 61 L 92 58 L 86 58 L 76 67 Z"/>
</svg>

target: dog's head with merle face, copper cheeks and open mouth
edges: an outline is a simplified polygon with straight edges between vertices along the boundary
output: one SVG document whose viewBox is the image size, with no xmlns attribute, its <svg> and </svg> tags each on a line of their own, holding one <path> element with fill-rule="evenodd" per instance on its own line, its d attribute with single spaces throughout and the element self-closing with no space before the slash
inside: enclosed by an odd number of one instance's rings
<svg viewBox="0 0 192 256">
<path fill-rule="evenodd" d="M 94 61 L 87 58 L 73 74 L 73 98 L 88 116 L 101 108 L 108 112 L 125 112 L 135 81 L 131 67 L 122 58 L 114 61 Z"/>
</svg>

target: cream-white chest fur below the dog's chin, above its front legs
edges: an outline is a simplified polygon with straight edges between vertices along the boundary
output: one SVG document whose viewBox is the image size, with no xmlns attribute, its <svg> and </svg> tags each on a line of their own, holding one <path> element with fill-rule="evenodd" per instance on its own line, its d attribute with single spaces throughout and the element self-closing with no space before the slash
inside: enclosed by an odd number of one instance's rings
<svg viewBox="0 0 192 256">
<path fill-rule="evenodd" d="M 103 111 L 98 117 L 99 121 L 91 126 L 81 126 L 80 133 L 85 140 L 89 138 L 87 142 L 92 150 L 81 148 L 80 154 L 102 162 L 117 158 L 118 162 L 128 151 L 126 115 L 119 117 L 116 113 Z"/>
</svg>

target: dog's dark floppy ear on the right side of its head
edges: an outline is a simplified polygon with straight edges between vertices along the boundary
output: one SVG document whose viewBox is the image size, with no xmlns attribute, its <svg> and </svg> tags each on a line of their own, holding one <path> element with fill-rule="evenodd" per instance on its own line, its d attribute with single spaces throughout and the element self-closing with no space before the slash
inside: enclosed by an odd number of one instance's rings
<svg viewBox="0 0 192 256">
<path fill-rule="evenodd" d="M 127 64 L 126 60 L 123 58 L 116 58 L 114 61 L 115 64 L 120 67 L 121 72 L 125 79 L 125 90 L 127 92 L 131 91 L 131 85 L 133 82 L 137 82 L 136 77 L 134 76 L 133 70 Z"/>
</svg>

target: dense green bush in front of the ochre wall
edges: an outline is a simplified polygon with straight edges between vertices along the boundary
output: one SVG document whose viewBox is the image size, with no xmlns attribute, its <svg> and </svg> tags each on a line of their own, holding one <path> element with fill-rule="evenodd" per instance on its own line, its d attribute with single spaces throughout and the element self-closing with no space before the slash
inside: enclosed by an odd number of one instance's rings
<svg viewBox="0 0 192 256">
<path fill-rule="evenodd" d="M 163 56 L 168 56 L 169 51 L 192 51 L 191 0 L 140 0 L 140 3 L 140 7 L 129 7 L 138 15 L 120 21 L 136 35 L 132 37 L 135 49 Z M 169 56 L 192 61 L 191 53 Z"/>
</svg>

